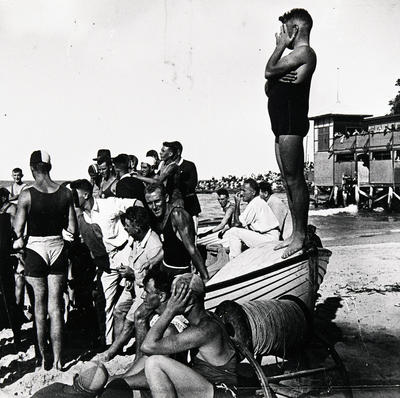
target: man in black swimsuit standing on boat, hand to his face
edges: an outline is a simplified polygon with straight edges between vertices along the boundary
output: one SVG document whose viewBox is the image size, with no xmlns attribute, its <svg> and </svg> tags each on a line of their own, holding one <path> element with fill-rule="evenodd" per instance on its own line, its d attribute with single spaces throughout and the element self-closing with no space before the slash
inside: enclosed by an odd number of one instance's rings
<svg viewBox="0 0 400 398">
<path fill-rule="evenodd" d="M 275 153 L 286 188 L 293 220 L 291 236 L 275 249 L 286 248 L 282 258 L 300 251 L 307 229 L 309 194 L 304 179 L 303 138 L 309 128 L 308 102 L 317 58 L 310 47 L 312 18 L 295 8 L 279 18 L 280 34 L 265 69 L 268 112 L 275 134 Z M 293 50 L 282 57 L 285 49 Z"/>
</svg>

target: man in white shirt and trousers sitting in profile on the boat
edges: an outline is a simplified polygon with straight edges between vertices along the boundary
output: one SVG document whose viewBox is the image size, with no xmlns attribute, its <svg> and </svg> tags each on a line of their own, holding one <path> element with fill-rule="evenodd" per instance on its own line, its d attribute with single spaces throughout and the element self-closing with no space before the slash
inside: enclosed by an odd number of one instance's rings
<svg viewBox="0 0 400 398">
<path fill-rule="evenodd" d="M 241 195 L 248 204 L 243 214 L 240 214 L 241 198 L 238 197 L 234 216 L 235 225 L 242 228 L 233 227 L 226 233 L 230 259 L 242 252 L 242 243 L 248 247 L 256 247 L 265 242 L 279 240 L 278 220 L 265 200 L 260 198 L 259 191 L 255 180 L 244 180 Z"/>
</svg>

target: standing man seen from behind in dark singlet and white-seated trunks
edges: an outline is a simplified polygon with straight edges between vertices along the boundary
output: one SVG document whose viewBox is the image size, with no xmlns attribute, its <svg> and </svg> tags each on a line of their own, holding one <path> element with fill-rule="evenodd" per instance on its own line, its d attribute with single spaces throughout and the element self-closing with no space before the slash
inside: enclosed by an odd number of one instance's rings
<svg viewBox="0 0 400 398">
<path fill-rule="evenodd" d="M 47 346 L 46 320 L 50 317 L 53 366 L 61 369 L 63 328 L 63 285 L 68 268 L 64 237 L 70 240 L 76 231 L 72 194 L 50 178 L 50 156 L 35 151 L 30 158 L 35 183 L 20 194 L 14 229 L 14 249 L 25 246 L 25 279 L 34 295 L 34 314 L 38 345 L 45 365 Z"/>
</svg>

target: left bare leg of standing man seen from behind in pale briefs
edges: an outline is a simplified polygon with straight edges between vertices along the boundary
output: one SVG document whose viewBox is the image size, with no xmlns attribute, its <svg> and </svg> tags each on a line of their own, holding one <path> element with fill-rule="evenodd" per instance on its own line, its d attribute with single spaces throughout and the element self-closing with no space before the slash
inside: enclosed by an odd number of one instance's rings
<svg viewBox="0 0 400 398">
<path fill-rule="evenodd" d="M 42 369 L 45 365 L 45 354 L 47 346 L 47 335 L 46 335 L 46 319 L 47 319 L 47 279 L 46 278 L 34 278 L 26 276 L 26 283 L 32 287 L 34 300 L 33 310 L 35 314 L 35 325 L 37 342 L 39 347 L 39 353 L 42 360 Z"/>
</svg>

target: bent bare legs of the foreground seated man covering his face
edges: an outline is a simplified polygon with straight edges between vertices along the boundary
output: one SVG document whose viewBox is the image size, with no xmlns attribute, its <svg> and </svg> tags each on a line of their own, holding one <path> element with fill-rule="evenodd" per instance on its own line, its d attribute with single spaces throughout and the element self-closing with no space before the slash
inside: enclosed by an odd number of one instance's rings
<svg viewBox="0 0 400 398">
<path fill-rule="evenodd" d="M 186 365 L 163 355 L 152 355 L 145 363 L 153 398 L 211 398 L 213 385 Z"/>
</svg>

